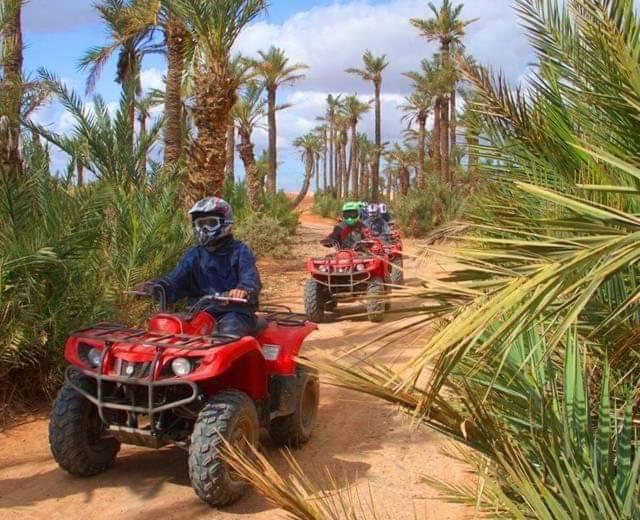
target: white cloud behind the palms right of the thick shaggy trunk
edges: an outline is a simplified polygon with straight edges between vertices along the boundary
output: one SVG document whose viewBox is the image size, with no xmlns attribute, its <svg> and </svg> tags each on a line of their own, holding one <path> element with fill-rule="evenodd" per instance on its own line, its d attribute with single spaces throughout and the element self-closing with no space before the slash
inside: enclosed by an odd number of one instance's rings
<svg viewBox="0 0 640 520">
<path fill-rule="evenodd" d="M 294 106 L 278 114 L 279 159 L 282 186 L 291 189 L 299 183 L 298 154 L 291 149 L 295 137 L 319 124 L 315 118 L 325 110 L 327 93 L 358 92 L 371 95 L 371 85 L 347 74 L 359 67 L 362 54 L 386 54 L 390 65 L 383 79 L 383 139 L 397 140 L 404 128 L 398 109 L 410 84 L 402 73 L 416 69 L 423 58 L 436 50 L 435 43 L 420 37 L 410 18 L 430 15 L 425 0 L 391 0 L 371 4 L 364 0 L 314 7 L 287 19 L 283 24 L 259 22 L 240 36 L 237 50 L 253 55 L 271 45 L 285 50 L 292 63 L 309 65 L 306 79 L 294 87 L 281 89 L 280 102 Z M 465 43 L 479 63 L 505 72 L 512 81 L 521 81 L 532 60 L 532 51 L 512 9 L 511 0 L 473 0 L 466 2 L 463 17 L 480 18 L 469 26 Z M 373 135 L 373 112 L 360 124 L 361 131 Z M 266 146 L 266 134 L 256 132 L 257 148 Z"/>
</svg>

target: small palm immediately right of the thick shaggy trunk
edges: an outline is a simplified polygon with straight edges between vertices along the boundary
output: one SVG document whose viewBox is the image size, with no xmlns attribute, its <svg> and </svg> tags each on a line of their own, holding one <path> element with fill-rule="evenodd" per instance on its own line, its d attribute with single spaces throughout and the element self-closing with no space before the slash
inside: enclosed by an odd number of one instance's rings
<svg viewBox="0 0 640 520">
<path fill-rule="evenodd" d="M 258 122 L 265 115 L 266 99 L 263 96 L 264 88 L 255 82 L 250 82 L 244 92 L 236 101 L 231 112 L 235 126 L 238 128 L 240 144 L 238 151 L 244 164 L 247 180 L 247 195 L 249 205 L 253 210 L 259 210 L 262 204 L 262 183 L 258 178 L 254 145 L 251 134 L 258 126 Z"/>
</svg>

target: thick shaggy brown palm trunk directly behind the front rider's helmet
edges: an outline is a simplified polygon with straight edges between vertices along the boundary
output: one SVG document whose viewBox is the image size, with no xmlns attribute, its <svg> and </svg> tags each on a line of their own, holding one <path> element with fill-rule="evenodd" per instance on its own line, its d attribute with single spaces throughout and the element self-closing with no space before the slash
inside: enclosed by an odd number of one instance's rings
<svg viewBox="0 0 640 520">
<path fill-rule="evenodd" d="M 198 71 L 194 79 L 193 120 L 198 135 L 189 154 L 187 203 L 209 195 L 219 196 L 227 162 L 227 124 L 236 101 L 234 82 L 211 68 Z"/>
</svg>

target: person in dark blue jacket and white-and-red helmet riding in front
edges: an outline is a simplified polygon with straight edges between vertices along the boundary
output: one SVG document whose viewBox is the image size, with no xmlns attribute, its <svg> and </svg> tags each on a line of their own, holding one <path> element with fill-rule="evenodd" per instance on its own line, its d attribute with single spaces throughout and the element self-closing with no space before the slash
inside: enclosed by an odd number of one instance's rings
<svg viewBox="0 0 640 520">
<path fill-rule="evenodd" d="M 149 292 L 164 288 L 167 303 L 188 298 L 194 303 L 207 294 L 227 294 L 248 304 L 211 302 L 206 312 L 216 319 L 216 333 L 248 336 L 256 328 L 261 283 L 251 249 L 232 234 L 231 206 L 218 197 L 207 197 L 189 211 L 198 245 L 189 249 L 166 277 L 137 287 Z"/>
</svg>

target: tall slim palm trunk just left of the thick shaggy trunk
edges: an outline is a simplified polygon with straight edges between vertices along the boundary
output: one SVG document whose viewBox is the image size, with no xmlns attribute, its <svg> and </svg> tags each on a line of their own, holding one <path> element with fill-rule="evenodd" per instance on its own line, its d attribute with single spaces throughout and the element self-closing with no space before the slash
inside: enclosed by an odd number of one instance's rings
<svg viewBox="0 0 640 520">
<path fill-rule="evenodd" d="M 172 167 L 182 156 L 182 76 L 185 30 L 180 19 L 169 15 L 166 27 L 167 83 L 165 90 L 164 164 Z"/>
</svg>

